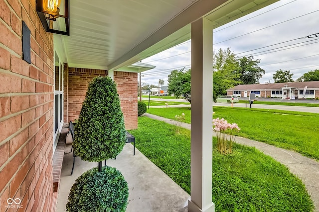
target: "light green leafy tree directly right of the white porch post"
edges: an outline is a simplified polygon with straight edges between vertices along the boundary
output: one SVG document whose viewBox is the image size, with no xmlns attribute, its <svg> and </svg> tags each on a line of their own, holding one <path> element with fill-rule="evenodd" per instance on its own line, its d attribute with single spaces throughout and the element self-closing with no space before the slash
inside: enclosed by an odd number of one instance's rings
<svg viewBox="0 0 319 212">
<path fill-rule="evenodd" d="M 238 60 L 230 48 L 219 49 L 213 54 L 213 100 L 219 95 L 227 93 L 227 89 L 240 83 L 238 70 Z"/>
</svg>

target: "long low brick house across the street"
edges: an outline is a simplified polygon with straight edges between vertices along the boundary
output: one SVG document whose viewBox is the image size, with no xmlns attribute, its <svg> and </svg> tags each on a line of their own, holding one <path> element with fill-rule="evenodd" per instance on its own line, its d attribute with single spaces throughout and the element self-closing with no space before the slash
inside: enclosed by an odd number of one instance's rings
<svg viewBox="0 0 319 212">
<path fill-rule="evenodd" d="M 315 99 L 319 98 L 319 81 L 248 84 L 227 89 L 227 95 L 249 97 L 250 93 L 266 98 Z"/>
</svg>

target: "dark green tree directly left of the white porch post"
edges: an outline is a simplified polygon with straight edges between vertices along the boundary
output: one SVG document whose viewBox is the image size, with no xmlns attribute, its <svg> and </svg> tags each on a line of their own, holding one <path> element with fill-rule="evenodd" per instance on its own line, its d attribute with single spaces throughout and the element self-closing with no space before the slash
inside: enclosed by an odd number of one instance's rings
<svg viewBox="0 0 319 212">
<path fill-rule="evenodd" d="M 190 76 L 191 70 L 173 70 L 168 75 L 168 94 L 182 96 L 190 103 Z"/>
</svg>

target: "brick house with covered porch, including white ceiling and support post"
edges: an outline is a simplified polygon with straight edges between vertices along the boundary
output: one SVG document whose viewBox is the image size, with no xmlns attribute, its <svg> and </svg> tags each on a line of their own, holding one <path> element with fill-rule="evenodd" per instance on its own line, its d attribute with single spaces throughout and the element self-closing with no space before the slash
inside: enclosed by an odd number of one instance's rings
<svg viewBox="0 0 319 212">
<path fill-rule="evenodd" d="M 143 67 L 132 64 L 190 38 L 192 123 L 200 124 L 192 125 L 188 209 L 212 211 L 212 146 L 204 142 L 212 136 L 212 101 L 202 101 L 212 97 L 212 29 L 275 1 L 71 0 L 70 36 L 63 36 L 45 31 L 36 0 L 0 0 L 0 211 L 55 211 L 56 141 L 63 123 L 77 118 L 92 77 L 116 81 L 126 127 L 136 128 Z M 30 64 L 22 55 L 22 21 L 30 31 Z"/>
</svg>

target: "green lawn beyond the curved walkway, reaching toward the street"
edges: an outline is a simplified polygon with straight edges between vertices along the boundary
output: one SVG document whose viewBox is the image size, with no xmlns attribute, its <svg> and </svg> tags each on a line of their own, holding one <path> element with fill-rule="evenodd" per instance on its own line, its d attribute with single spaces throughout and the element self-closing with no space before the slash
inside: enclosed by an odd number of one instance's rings
<svg viewBox="0 0 319 212">
<path fill-rule="evenodd" d="M 148 113 L 174 119 L 185 114 L 190 123 L 190 108 L 150 108 Z M 319 160 L 319 114 L 294 111 L 214 107 L 214 118 L 237 123 L 238 136 L 292 149 Z"/>
</svg>

